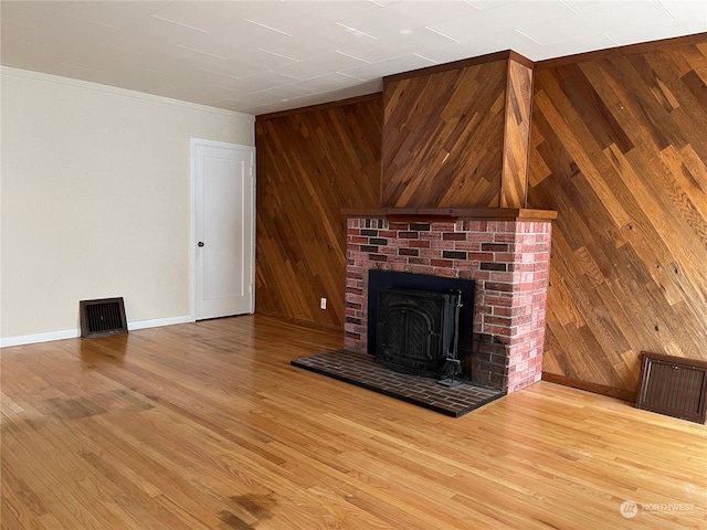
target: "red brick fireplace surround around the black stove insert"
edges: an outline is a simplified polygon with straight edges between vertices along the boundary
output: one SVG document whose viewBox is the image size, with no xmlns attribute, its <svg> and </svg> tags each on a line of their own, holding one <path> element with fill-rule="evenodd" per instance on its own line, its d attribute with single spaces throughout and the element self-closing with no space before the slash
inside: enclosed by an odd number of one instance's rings
<svg viewBox="0 0 707 530">
<path fill-rule="evenodd" d="M 539 381 L 551 230 L 550 221 L 350 218 L 345 348 L 367 351 L 369 269 L 475 279 L 474 335 L 487 347 L 472 360 L 473 382 L 510 393 Z"/>
</svg>

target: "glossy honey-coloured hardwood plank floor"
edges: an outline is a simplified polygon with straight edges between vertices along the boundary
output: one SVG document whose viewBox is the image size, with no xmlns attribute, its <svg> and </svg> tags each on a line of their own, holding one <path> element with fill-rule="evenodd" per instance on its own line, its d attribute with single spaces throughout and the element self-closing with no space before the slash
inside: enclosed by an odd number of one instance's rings
<svg viewBox="0 0 707 530">
<path fill-rule="evenodd" d="M 451 418 L 289 365 L 340 347 L 247 316 L 3 349 L 2 529 L 705 528 L 704 425 L 547 382 Z"/>
</svg>

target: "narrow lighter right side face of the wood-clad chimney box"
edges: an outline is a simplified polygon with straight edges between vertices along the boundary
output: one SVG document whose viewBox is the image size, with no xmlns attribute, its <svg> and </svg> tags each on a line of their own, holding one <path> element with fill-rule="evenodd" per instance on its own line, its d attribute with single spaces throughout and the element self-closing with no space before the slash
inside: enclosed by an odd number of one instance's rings
<svg viewBox="0 0 707 530">
<path fill-rule="evenodd" d="M 532 68 L 508 61 L 500 208 L 525 208 L 528 189 L 528 138 L 532 105 Z"/>
</svg>

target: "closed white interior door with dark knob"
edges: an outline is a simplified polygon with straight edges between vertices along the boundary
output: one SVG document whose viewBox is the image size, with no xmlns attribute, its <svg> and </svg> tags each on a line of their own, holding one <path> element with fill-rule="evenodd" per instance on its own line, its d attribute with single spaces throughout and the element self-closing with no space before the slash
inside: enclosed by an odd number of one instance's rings
<svg viewBox="0 0 707 530">
<path fill-rule="evenodd" d="M 197 320 L 253 312 L 254 155 L 191 140 Z"/>
</svg>

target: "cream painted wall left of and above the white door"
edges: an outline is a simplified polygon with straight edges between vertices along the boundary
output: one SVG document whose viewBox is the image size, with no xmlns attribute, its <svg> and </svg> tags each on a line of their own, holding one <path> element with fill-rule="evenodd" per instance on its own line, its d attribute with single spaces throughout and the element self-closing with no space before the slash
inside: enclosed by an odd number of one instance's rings
<svg viewBox="0 0 707 530">
<path fill-rule="evenodd" d="M 255 142 L 254 117 L 0 70 L 0 338 L 76 336 L 78 300 L 131 328 L 189 320 L 189 139 Z"/>
</svg>

